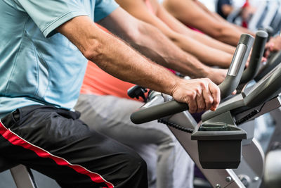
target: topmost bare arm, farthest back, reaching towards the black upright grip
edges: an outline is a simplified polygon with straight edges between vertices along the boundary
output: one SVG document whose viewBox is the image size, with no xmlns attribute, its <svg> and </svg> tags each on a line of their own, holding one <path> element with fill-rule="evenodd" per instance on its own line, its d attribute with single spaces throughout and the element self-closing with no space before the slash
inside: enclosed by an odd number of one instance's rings
<svg viewBox="0 0 281 188">
<path fill-rule="evenodd" d="M 164 6 L 185 25 L 195 27 L 207 35 L 235 46 L 242 32 L 236 27 L 225 25 L 202 10 L 192 0 L 166 0 Z"/>
</svg>

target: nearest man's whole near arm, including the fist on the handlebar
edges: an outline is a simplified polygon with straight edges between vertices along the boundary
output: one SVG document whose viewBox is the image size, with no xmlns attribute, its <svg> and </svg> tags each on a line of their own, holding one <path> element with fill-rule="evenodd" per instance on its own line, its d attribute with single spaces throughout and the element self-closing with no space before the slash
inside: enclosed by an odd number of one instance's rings
<svg viewBox="0 0 281 188">
<path fill-rule="evenodd" d="M 213 82 L 176 77 L 148 61 L 122 40 L 100 30 L 88 16 L 73 18 L 57 30 L 87 59 L 119 79 L 171 94 L 177 101 L 188 103 L 192 112 L 218 106 L 219 90 Z"/>
</svg>

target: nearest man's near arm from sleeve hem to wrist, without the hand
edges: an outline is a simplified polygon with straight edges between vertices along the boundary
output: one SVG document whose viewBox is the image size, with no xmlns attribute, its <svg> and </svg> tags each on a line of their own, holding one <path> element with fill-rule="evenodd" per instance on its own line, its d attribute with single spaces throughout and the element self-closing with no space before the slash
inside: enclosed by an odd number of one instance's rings
<svg viewBox="0 0 281 188">
<path fill-rule="evenodd" d="M 107 73 L 126 82 L 172 94 L 179 78 L 121 39 L 100 30 L 89 17 L 79 16 L 57 28 L 81 53 Z"/>
</svg>

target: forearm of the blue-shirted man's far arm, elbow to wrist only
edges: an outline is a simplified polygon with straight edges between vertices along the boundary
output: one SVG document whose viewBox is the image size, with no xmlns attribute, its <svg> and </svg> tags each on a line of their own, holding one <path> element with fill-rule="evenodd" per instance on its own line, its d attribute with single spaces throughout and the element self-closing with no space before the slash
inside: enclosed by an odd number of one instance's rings
<svg viewBox="0 0 281 188">
<path fill-rule="evenodd" d="M 190 77 L 206 77 L 209 68 L 197 58 L 185 53 L 157 28 L 143 23 L 138 27 L 138 35 L 131 46 L 153 61 Z"/>
</svg>

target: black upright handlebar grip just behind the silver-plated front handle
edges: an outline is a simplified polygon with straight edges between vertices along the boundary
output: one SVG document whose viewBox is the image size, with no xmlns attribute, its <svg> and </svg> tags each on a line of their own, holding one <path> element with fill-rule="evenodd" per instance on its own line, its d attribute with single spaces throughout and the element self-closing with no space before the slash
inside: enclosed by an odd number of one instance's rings
<svg viewBox="0 0 281 188">
<path fill-rule="evenodd" d="M 251 58 L 249 61 L 249 67 L 244 70 L 240 84 L 245 84 L 250 80 L 254 79 L 259 71 L 261 65 L 261 58 L 263 57 L 263 52 L 266 46 L 266 40 L 268 38 L 268 33 L 265 31 L 256 32 L 256 38 L 254 40 L 253 50 L 251 51 Z"/>
</svg>

